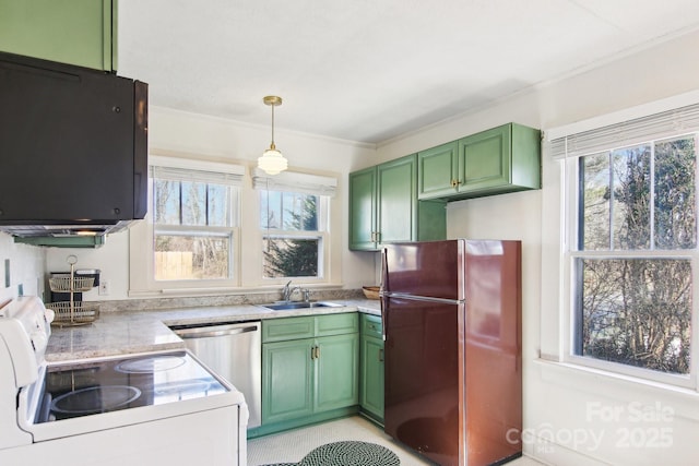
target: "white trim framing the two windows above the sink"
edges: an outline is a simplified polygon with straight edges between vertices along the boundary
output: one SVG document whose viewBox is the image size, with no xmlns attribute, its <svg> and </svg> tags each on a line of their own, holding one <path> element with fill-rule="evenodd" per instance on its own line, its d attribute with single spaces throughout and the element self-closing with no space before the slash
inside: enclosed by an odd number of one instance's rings
<svg viewBox="0 0 699 466">
<path fill-rule="evenodd" d="M 153 213 L 149 210 L 144 220 L 135 222 L 128 231 L 129 238 L 129 289 L 128 296 L 132 298 L 151 297 L 200 297 L 222 295 L 245 295 L 260 292 L 279 292 L 288 279 L 262 279 L 261 235 L 259 218 L 259 195 L 256 190 L 259 183 L 265 186 L 283 187 L 293 184 L 303 190 L 320 189 L 327 195 L 327 237 L 323 241 L 323 276 L 320 278 L 298 277 L 294 282 L 310 289 L 342 287 L 343 271 L 343 241 L 346 230 L 343 225 L 346 215 L 346 188 L 339 183 L 339 175 L 332 172 L 295 172 L 283 171 L 274 177 L 250 168 L 247 162 L 213 162 L 203 158 L 203 155 L 190 155 L 171 153 L 165 150 L 152 148 L 149 163 L 153 165 L 158 159 L 175 163 L 176 167 L 193 170 L 202 170 L 205 167 L 224 168 L 234 171 L 240 177 L 239 191 L 239 227 L 234 236 L 234 248 L 238 251 L 235 256 L 235 280 L 211 282 L 203 286 L 196 280 L 182 282 L 155 282 L 153 260 Z M 216 160 L 221 160 L 217 158 Z M 245 164 L 245 165 L 241 165 Z M 269 179 L 265 179 L 268 177 Z M 341 195 L 336 193 L 342 192 Z M 149 200 L 152 200 L 152 183 L 149 183 Z M 322 195 L 321 195 L 322 200 Z M 322 201 L 321 201 L 322 202 Z M 325 222 L 324 220 L 324 222 Z M 320 219 L 319 219 L 320 222 Z M 242 247 L 245 246 L 245 247 Z M 163 286 L 168 285 L 168 286 Z"/>
</svg>

